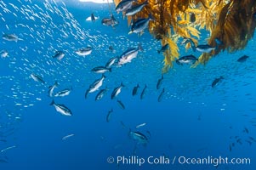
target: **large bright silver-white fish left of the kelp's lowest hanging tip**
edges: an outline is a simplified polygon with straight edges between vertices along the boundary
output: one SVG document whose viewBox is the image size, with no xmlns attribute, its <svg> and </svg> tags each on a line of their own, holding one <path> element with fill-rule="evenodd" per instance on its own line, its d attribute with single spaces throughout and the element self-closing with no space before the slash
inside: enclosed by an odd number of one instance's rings
<svg viewBox="0 0 256 170">
<path fill-rule="evenodd" d="M 137 54 L 139 53 L 139 50 L 142 50 L 141 46 L 139 45 L 138 48 L 129 48 L 126 50 L 118 59 L 117 65 L 121 66 L 126 63 L 129 63 L 132 61 L 132 59 L 137 57 Z"/>
</svg>

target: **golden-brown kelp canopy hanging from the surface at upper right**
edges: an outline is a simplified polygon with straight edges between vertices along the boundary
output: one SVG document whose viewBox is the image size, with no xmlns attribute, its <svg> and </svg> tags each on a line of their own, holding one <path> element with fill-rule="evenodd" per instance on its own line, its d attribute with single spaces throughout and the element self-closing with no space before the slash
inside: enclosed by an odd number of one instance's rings
<svg viewBox="0 0 256 170">
<path fill-rule="evenodd" d="M 121 0 L 114 0 L 116 6 Z M 137 0 L 134 4 L 144 3 Z M 164 54 L 163 72 L 173 65 L 179 58 L 178 39 L 191 38 L 198 44 L 200 30 L 209 31 L 208 44 L 216 47 L 216 38 L 222 42 L 210 54 L 202 54 L 198 63 L 205 64 L 213 55 L 227 49 L 229 52 L 242 49 L 247 45 L 256 26 L 255 0 L 148 0 L 139 13 L 128 16 L 131 20 L 147 18 L 151 14 L 154 18 L 149 24 L 149 31 L 153 37 L 162 41 L 162 46 L 169 43 Z M 195 20 L 196 19 L 196 20 Z M 185 48 L 190 48 L 187 43 Z"/>
</svg>

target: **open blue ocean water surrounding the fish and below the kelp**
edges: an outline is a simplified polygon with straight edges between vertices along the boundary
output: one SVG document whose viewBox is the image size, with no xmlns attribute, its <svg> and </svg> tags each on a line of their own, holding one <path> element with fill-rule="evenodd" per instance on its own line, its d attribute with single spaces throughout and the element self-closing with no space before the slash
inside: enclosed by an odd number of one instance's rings
<svg viewBox="0 0 256 170">
<path fill-rule="evenodd" d="M 207 65 L 174 64 L 156 89 L 162 76 L 163 56 L 156 52 L 161 42 L 148 31 L 128 35 L 127 20 L 114 9 L 111 3 L 119 21 L 113 28 L 101 24 L 110 15 L 107 4 L 0 1 L 1 33 L 19 38 L 0 40 L 0 51 L 8 52 L 0 58 L 0 169 L 255 169 L 255 36 L 246 48 L 222 52 Z M 100 19 L 86 21 L 92 13 Z M 199 42 L 207 43 L 207 37 L 202 31 Z M 139 44 L 143 51 L 136 59 L 105 73 L 103 98 L 95 101 L 98 90 L 85 99 L 90 84 L 102 77 L 91 70 Z M 86 57 L 75 53 L 86 47 L 93 49 Z M 54 59 L 56 51 L 63 51 L 64 58 Z M 185 48 L 179 53 L 200 56 Z M 242 55 L 249 58 L 237 62 Z M 212 88 L 218 77 L 224 79 Z M 71 93 L 49 97 L 54 82 L 59 84 L 54 94 L 65 88 Z M 121 83 L 121 93 L 111 99 Z M 53 99 L 72 116 L 49 105 Z M 200 162 L 203 158 L 208 161 Z"/>
</svg>

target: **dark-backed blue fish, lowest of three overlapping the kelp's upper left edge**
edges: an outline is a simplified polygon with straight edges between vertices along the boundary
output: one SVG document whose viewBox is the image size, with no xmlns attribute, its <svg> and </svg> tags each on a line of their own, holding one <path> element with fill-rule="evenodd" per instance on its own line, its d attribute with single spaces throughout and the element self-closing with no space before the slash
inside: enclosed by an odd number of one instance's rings
<svg viewBox="0 0 256 170">
<path fill-rule="evenodd" d="M 140 33 L 141 31 L 144 31 L 145 28 L 149 25 L 150 20 L 153 20 L 152 15 L 150 14 L 147 19 L 139 19 L 133 22 L 133 25 L 131 27 L 131 31 L 128 32 L 128 34 L 131 33 Z"/>
</svg>

